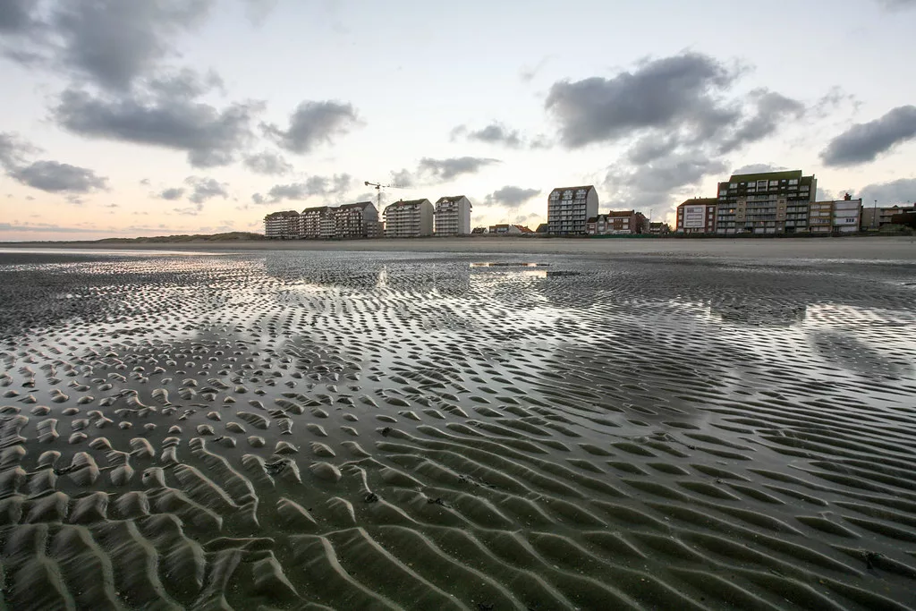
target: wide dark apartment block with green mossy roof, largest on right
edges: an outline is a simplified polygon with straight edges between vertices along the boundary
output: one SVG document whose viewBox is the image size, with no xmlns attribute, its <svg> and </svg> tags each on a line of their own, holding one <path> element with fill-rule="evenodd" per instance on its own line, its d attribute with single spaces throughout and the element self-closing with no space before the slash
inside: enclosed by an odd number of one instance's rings
<svg viewBox="0 0 916 611">
<path fill-rule="evenodd" d="M 808 230 L 817 179 L 801 169 L 734 174 L 719 183 L 715 232 L 781 234 Z"/>
</svg>

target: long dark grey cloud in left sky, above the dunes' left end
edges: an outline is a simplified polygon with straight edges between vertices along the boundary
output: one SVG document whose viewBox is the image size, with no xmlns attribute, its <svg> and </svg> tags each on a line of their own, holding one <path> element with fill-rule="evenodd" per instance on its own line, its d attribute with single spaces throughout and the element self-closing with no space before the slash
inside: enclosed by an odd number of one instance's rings
<svg viewBox="0 0 916 611">
<path fill-rule="evenodd" d="M 74 134 L 184 151 L 195 168 L 232 163 L 253 140 L 259 103 L 230 104 L 221 110 L 185 95 L 155 91 L 97 96 L 68 89 L 52 115 Z"/>
</svg>

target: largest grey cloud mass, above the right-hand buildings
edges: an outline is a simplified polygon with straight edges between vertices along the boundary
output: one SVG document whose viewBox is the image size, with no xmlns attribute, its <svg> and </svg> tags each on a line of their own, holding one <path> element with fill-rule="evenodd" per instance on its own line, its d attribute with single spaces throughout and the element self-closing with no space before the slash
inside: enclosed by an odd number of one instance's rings
<svg viewBox="0 0 916 611">
<path fill-rule="evenodd" d="M 555 82 L 545 108 L 563 146 L 622 147 L 604 178 L 612 207 L 668 209 L 674 198 L 696 195 L 706 177 L 721 176 L 725 156 L 812 112 L 769 89 L 738 93 L 744 72 L 683 52 L 611 78 Z"/>
</svg>

